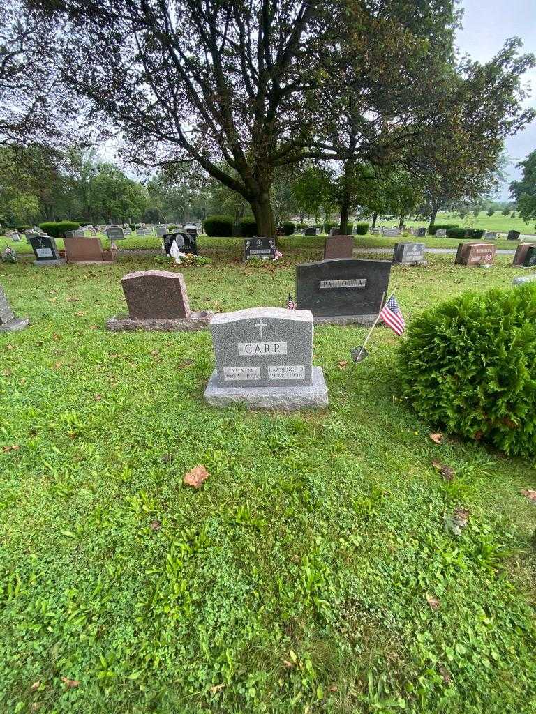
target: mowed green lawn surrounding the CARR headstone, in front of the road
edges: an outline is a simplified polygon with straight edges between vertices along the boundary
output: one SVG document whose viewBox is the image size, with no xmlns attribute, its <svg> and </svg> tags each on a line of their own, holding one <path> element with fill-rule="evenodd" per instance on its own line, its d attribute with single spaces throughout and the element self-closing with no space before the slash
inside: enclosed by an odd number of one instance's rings
<svg viewBox="0 0 536 714">
<path fill-rule="evenodd" d="M 183 272 L 192 308 L 214 311 L 284 306 L 294 263 L 318 257 L 207 254 Z M 452 263 L 392 268 L 408 321 L 524 274 L 511 256 Z M 0 335 L 0 709 L 534 712 L 534 466 L 433 443 L 386 328 L 359 366 L 344 362 L 364 328 L 315 330 L 327 411 L 210 408 L 209 332 L 104 329 L 121 276 L 155 266 L 0 266 L 31 318 Z"/>
</svg>

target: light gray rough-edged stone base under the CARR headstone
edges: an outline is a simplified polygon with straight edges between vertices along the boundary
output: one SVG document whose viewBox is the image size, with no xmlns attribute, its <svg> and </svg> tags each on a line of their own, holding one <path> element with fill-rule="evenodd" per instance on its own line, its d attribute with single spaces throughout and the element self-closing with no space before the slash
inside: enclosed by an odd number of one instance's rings
<svg viewBox="0 0 536 714">
<path fill-rule="evenodd" d="M 327 407 L 327 386 L 322 367 L 312 368 L 312 385 L 309 387 L 221 387 L 214 370 L 207 389 L 205 401 L 212 406 L 246 404 L 250 409 L 275 409 L 295 411 Z"/>
</svg>

